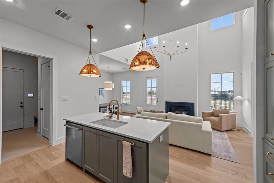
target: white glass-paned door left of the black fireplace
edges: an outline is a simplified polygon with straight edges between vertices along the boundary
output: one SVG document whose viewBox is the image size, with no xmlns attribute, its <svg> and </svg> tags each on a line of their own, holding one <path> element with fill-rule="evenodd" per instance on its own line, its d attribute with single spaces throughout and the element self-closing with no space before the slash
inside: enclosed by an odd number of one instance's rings
<svg viewBox="0 0 274 183">
<path fill-rule="evenodd" d="M 158 110 L 158 77 L 145 78 L 145 110 Z"/>
</svg>

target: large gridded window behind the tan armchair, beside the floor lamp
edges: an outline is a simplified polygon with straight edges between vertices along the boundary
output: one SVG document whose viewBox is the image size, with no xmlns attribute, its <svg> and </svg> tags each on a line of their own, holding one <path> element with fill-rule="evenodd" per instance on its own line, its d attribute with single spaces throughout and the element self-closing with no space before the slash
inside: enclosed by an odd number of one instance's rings
<svg viewBox="0 0 274 183">
<path fill-rule="evenodd" d="M 234 111 L 234 72 L 211 74 L 211 109 Z"/>
</svg>

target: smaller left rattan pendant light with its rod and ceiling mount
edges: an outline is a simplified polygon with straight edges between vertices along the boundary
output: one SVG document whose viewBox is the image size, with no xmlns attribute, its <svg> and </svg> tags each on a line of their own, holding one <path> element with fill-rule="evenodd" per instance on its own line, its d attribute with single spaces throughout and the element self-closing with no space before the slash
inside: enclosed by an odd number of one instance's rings
<svg viewBox="0 0 274 183">
<path fill-rule="evenodd" d="M 80 76 L 86 76 L 86 77 L 101 77 L 101 73 L 100 70 L 97 67 L 97 64 L 92 56 L 91 53 L 91 30 L 93 29 L 92 25 L 87 25 L 88 29 L 89 29 L 89 55 L 88 55 L 88 59 L 86 62 L 86 65 L 83 66 L 82 70 L 80 71 L 79 75 Z M 90 63 L 90 57 L 92 57 L 95 65 L 93 65 L 92 63 Z"/>
</svg>

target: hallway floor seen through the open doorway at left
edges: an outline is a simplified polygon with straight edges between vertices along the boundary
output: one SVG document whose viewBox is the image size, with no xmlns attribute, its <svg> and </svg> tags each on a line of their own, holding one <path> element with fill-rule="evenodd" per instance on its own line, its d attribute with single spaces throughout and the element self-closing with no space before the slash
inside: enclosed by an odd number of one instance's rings
<svg viewBox="0 0 274 183">
<path fill-rule="evenodd" d="M 2 133 L 2 161 L 49 146 L 49 139 L 36 134 L 36 127 Z"/>
</svg>

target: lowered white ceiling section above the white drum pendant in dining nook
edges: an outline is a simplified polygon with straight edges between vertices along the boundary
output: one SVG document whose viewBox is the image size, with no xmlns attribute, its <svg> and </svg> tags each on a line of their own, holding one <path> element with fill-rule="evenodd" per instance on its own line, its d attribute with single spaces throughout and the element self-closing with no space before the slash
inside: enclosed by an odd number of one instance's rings
<svg viewBox="0 0 274 183">
<path fill-rule="evenodd" d="M 107 66 L 109 66 L 109 73 L 120 73 L 130 71 L 129 65 L 127 63 L 123 63 L 118 60 L 99 54 L 99 70 L 107 72 Z"/>
</svg>

